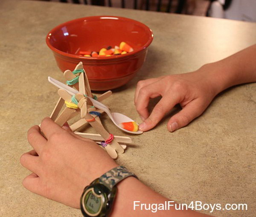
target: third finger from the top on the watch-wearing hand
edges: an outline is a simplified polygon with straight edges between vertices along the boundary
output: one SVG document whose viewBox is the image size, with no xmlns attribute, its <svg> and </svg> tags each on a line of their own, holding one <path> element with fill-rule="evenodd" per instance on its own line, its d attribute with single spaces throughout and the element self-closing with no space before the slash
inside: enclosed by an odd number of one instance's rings
<svg viewBox="0 0 256 217">
<path fill-rule="evenodd" d="M 35 150 L 31 150 L 27 153 L 24 153 L 20 157 L 20 163 L 23 167 L 27 168 L 29 171 L 39 174 L 40 173 L 40 164 L 39 164 L 39 157 L 36 156 L 37 153 Z"/>
</svg>

